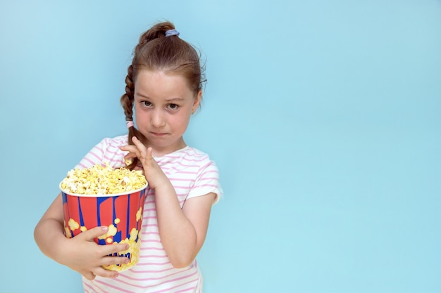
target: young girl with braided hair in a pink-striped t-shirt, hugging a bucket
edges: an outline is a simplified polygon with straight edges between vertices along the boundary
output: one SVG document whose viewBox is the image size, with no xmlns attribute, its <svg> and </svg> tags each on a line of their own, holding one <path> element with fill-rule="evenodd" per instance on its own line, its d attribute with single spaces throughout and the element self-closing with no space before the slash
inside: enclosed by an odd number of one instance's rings
<svg viewBox="0 0 441 293">
<path fill-rule="evenodd" d="M 39 248 L 81 273 L 85 292 L 202 291 L 195 257 L 221 187 L 216 164 L 182 138 L 201 102 L 201 73 L 197 51 L 180 39 L 172 23 L 162 22 L 144 32 L 120 98 L 129 134 L 104 138 L 78 165 L 87 168 L 107 162 L 123 167 L 130 160 L 130 169 L 144 171 L 149 187 L 135 267 L 119 273 L 101 267 L 128 262 L 125 257 L 109 256 L 128 245 L 94 242 L 106 233 L 106 226 L 65 237 L 61 195 L 37 223 Z"/>
</svg>

